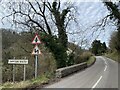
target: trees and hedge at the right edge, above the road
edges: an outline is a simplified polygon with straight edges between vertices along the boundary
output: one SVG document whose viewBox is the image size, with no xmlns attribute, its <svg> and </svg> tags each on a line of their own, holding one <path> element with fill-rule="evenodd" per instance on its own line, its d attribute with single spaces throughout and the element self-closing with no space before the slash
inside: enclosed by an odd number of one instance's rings
<svg viewBox="0 0 120 90">
<path fill-rule="evenodd" d="M 109 41 L 109 50 L 106 54 L 107 57 L 120 62 L 120 2 L 104 2 L 109 10 L 109 19 L 115 22 L 115 31 L 112 33 Z"/>
</svg>

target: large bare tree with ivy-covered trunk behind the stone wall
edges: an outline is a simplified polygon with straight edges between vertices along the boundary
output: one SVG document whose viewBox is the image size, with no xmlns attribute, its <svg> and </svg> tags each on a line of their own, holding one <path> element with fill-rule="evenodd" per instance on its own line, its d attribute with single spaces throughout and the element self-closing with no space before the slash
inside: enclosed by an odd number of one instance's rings
<svg viewBox="0 0 120 90">
<path fill-rule="evenodd" d="M 31 32 L 33 32 L 33 30 L 36 32 L 37 30 L 37 32 L 44 33 L 44 35 L 49 38 L 49 40 L 45 43 L 53 52 L 56 59 L 59 58 L 56 56 L 56 51 L 58 49 L 55 47 L 57 45 L 61 45 L 59 47 L 63 47 L 64 49 L 61 54 L 66 54 L 66 50 L 68 49 L 68 36 L 66 28 L 69 22 L 73 20 L 70 13 L 72 12 L 72 5 L 67 6 L 66 8 L 61 8 L 60 0 L 54 0 L 53 2 L 46 0 L 35 0 L 34 2 L 30 2 L 29 0 L 26 0 L 26 2 L 10 1 L 6 3 L 6 6 L 8 7 L 10 14 L 4 16 L 2 20 L 5 18 L 12 18 L 12 24 L 14 23 L 19 27 L 21 26 L 21 28 L 26 27 L 31 30 Z M 57 31 L 57 38 L 54 34 L 55 30 L 52 30 L 53 27 Z M 53 45 L 53 42 L 55 42 L 55 45 Z M 62 62 L 60 60 L 58 61 L 59 63 Z M 63 66 L 65 65 L 63 64 Z"/>
</svg>

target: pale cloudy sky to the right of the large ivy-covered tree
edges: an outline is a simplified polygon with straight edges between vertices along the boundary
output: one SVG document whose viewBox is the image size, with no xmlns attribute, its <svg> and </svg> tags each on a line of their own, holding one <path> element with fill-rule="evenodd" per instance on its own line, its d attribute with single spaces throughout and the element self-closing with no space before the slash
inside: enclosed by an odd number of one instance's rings
<svg viewBox="0 0 120 90">
<path fill-rule="evenodd" d="M 77 2 L 77 4 L 79 8 L 79 15 L 77 19 L 80 24 L 80 29 L 87 29 L 86 33 L 82 34 L 81 36 L 85 35 L 87 41 L 89 41 L 88 46 L 90 46 L 91 42 L 95 39 L 101 40 L 101 42 L 106 42 L 107 46 L 109 46 L 108 44 L 110 35 L 115 30 L 114 26 L 106 25 L 105 30 L 102 30 L 101 32 L 100 30 L 97 30 L 93 36 L 91 35 L 93 31 L 90 29 L 91 26 L 94 26 L 97 22 L 99 22 L 101 19 L 103 19 L 109 14 L 109 11 L 107 10 L 106 6 L 104 6 L 102 2 Z M 76 27 L 74 27 L 74 30 L 75 28 Z M 74 37 L 78 37 L 76 38 L 76 41 L 79 41 L 79 37 L 81 36 L 76 35 Z"/>
</svg>

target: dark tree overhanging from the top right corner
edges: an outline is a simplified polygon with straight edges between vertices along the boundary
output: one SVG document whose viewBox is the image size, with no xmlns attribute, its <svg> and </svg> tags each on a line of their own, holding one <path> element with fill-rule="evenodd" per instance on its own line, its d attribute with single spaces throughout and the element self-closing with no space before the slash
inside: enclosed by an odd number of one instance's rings
<svg viewBox="0 0 120 90">
<path fill-rule="evenodd" d="M 110 19 L 116 22 L 117 27 L 117 35 L 116 35 L 116 44 L 115 49 L 120 52 L 120 2 L 113 3 L 113 2 L 104 2 L 107 6 L 108 10 L 110 11 Z M 113 41 L 113 40 L 112 40 Z"/>
</svg>

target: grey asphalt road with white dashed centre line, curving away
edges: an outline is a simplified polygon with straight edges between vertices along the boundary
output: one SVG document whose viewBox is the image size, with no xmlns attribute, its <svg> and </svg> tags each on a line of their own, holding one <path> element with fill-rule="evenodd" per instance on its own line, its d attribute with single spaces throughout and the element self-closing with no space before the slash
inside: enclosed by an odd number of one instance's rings
<svg viewBox="0 0 120 90">
<path fill-rule="evenodd" d="M 45 88 L 118 88 L 118 63 L 97 56 L 95 64 L 91 67 Z"/>
</svg>

